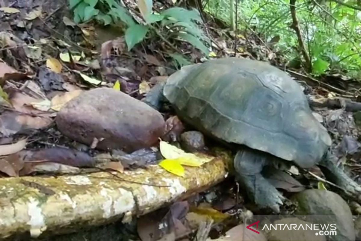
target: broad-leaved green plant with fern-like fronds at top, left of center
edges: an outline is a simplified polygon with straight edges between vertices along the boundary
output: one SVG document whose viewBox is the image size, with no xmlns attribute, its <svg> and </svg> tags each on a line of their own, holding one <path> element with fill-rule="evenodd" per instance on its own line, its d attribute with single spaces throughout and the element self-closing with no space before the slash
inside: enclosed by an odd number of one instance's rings
<svg viewBox="0 0 361 241">
<path fill-rule="evenodd" d="M 128 50 L 150 35 L 160 37 L 173 51 L 178 50 L 170 39 L 186 41 L 206 56 L 209 54 L 210 40 L 197 25 L 202 20 L 195 9 L 174 7 L 155 13 L 152 11 L 152 0 L 138 0 L 138 8 L 144 19 L 144 24 L 142 24 L 136 23 L 129 11 L 116 0 L 69 0 L 69 6 L 73 10 L 74 21 L 77 23 L 94 19 L 102 21 L 104 25 L 117 24 L 119 21 L 125 23 L 127 26 L 125 40 Z M 174 59 L 178 64 L 187 63 L 185 59 L 180 60 L 181 55 L 170 56 L 177 56 Z"/>
</svg>

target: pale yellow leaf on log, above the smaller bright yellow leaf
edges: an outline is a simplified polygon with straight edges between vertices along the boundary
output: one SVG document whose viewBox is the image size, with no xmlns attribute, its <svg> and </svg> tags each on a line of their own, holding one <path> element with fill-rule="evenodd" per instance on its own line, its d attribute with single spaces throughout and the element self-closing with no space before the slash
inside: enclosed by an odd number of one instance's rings
<svg viewBox="0 0 361 241">
<path fill-rule="evenodd" d="M 159 144 L 160 152 L 165 159 L 177 160 L 180 164 L 189 165 L 191 167 L 199 167 L 204 163 L 213 160 L 213 157 L 206 155 L 195 155 L 193 153 L 184 152 L 182 149 L 176 146 L 170 145 L 165 141 L 160 141 Z"/>
</svg>

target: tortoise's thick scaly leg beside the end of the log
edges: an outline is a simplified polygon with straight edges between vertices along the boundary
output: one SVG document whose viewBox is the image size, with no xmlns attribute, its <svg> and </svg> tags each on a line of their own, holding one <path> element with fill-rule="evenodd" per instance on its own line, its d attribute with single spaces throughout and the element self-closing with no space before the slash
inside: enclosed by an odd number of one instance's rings
<svg viewBox="0 0 361 241">
<path fill-rule="evenodd" d="M 260 208 L 271 208 L 279 213 L 284 198 L 261 174 L 262 169 L 273 161 L 270 158 L 264 152 L 245 148 L 237 152 L 234 167 L 236 178 L 247 190 L 248 197 Z"/>
</svg>

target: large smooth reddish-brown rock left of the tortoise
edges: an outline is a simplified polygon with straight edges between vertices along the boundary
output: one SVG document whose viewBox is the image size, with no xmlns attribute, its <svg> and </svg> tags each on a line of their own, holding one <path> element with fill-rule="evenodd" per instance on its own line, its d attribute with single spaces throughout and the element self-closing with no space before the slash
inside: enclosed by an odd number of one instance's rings
<svg viewBox="0 0 361 241">
<path fill-rule="evenodd" d="M 56 116 L 58 129 L 75 141 L 97 149 L 131 152 L 154 145 L 164 131 L 162 115 L 120 91 L 97 88 L 68 102 Z"/>
</svg>

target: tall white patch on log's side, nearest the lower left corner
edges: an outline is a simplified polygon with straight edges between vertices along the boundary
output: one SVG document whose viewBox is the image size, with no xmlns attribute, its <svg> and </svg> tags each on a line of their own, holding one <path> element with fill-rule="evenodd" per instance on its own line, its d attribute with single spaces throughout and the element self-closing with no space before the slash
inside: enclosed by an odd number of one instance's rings
<svg viewBox="0 0 361 241">
<path fill-rule="evenodd" d="M 30 220 L 26 224 L 30 225 L 31 237 L 38 237 L 46 229 L 42 209 L 38 204 L 38 200 L 33 197 L 29 198 L 27 214 L 30 216 Z"/>
</svg>

